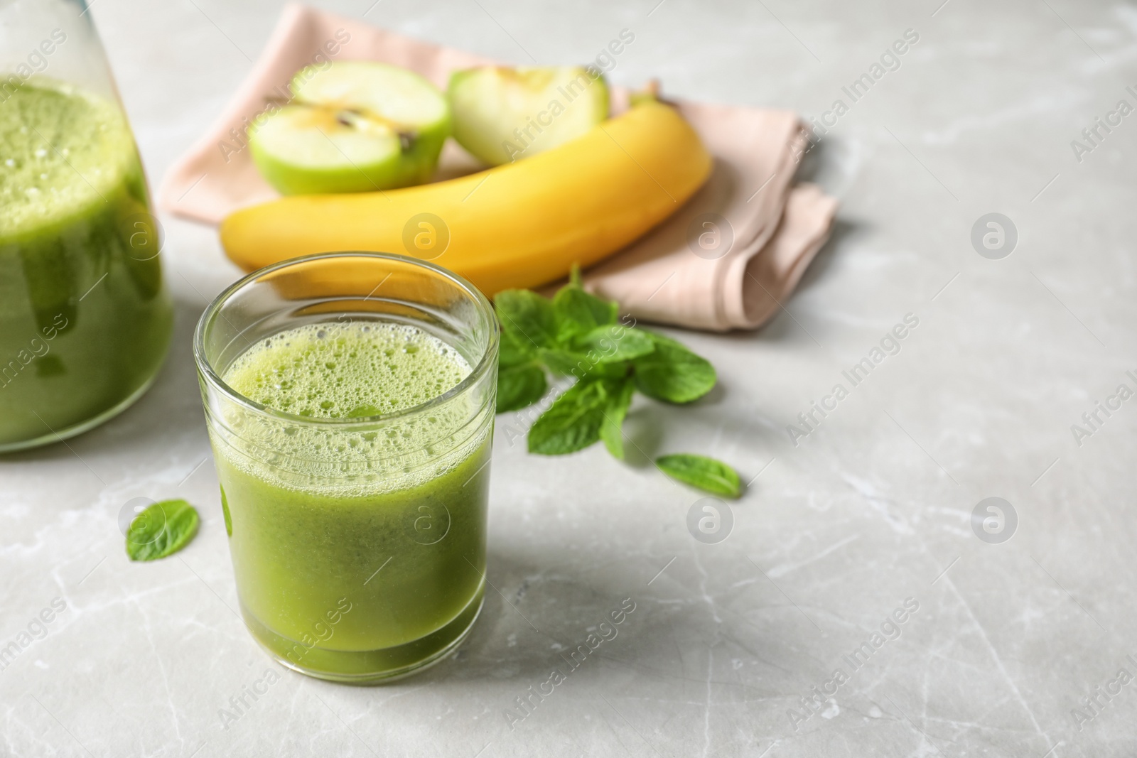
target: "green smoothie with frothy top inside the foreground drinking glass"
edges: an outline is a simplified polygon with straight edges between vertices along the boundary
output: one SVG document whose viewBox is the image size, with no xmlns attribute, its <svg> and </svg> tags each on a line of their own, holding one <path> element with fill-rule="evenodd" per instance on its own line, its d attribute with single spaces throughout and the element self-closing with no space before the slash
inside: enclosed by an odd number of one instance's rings
<svg viewBox="0 0 1137 758">
<path fill-rule="evenodd" d="M 410 409 L 471 370 L 416 326 L 357 320 L 260 340 L 223 373 L 269 409 L 360 419 L 210 427 L 242 609 L 285 663 L 376 678 L 468 630 L 485 572 L 491 424 L 467 424 L 476 414 L 460 394 Z"/>
</svg>

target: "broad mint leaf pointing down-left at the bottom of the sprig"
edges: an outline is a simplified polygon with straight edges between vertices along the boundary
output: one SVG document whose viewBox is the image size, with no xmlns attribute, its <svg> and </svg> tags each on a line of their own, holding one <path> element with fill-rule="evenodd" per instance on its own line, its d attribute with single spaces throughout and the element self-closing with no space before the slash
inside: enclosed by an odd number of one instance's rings
<svg viewBox="0 0 1137 758">
<path fill-rule="evenodd" d="M 584 378 L 553 401 L 529 430 L 529 451 L 561 456 L 583 450 L 600 439 L 604 411 L 616 390 L 612 380 Z"/>
</svg>

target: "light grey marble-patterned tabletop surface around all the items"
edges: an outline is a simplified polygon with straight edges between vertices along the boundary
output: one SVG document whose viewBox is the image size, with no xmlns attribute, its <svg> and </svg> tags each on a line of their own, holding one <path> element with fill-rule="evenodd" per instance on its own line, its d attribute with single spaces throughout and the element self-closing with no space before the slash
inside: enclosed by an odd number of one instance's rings
<svg viewBox="0 0 1137 758">
<path fill-rule="evenodd" d="M 1080 163 L 1071 148 L 1119 100 L 1137 106 L 1137 6 L 940 1 L 329 3 L 516 63 L 589 60 L 629 28 L 616 83 L 658 76 L 667 93 L 807 115 L 849 103 L 841 86 L 905 30 L 920 41 L 804 169 L 843 206 L 785 311 L 756 333 L 678 333 L 721 388 L 692 408 L 640 399 L 630 416 L 647 453 L 706 452 L 754 480 L 725 541 L 692 539 L 702 495 L 642 459 L 529 456 L 501 417 L 500 594 L 457 657 L 376 689 L 284 673 L 227 730 L 218 710 L 274 664 L 233 613 L 190 334 L 238 270 L 214 230 L 165 218 L 177 319 L 155 388 L 67 445 L 0 461 L 0 644 L 67 602 L 0 672 L 0 755 L 1137 752 L 1137 684 L 1080 731 L 1071 714 L 1119 668 L 1137 675 L 1124 659 L 1137 657 L 1137 399 L 1080 445 L 1071 432 L 1119 384 L 1137 389 L 1137 115 Z M 96 0 L 153 184 L 241 83 L 279 10 Z M 1018 228 L 1002 260 L 971 247 L 988 213 Z M 848 388 L 841 370 L 905 314 L 919 326 L 903 350 L 791 444 L 786 426 Z M 176 558 L 130 564 L 116 518 L 134 497 L 188 498 L 201 533 Z M 988 497 L 1018 515 L 1001 544 L 971 527 Z M 636 610 L 619 636 L 511 730 L 514 698 L 564 667 L 558 645 L 624 598 Z M 901 636 L 853 670 L 843 656 L 906 598 L 919 610 Z M 804 715 L 799 699 L 836 668 L 848 682 L 795 728 L 788 710 Z"/>
</svg>

